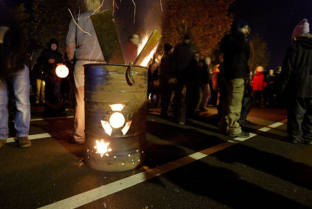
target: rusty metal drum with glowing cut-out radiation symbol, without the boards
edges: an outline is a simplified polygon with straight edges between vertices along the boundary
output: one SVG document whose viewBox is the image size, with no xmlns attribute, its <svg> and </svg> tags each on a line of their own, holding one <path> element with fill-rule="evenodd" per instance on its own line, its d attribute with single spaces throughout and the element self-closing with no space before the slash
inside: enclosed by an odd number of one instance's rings
<svg viewBox="0 0 312 209">
<path fill-rule="evenodd" d="M 102 171 L 140 166 L 146 137 L 148 68 L 85 64 L 84 73 L 86 164 Z M 122 104 L 123 108 L 116 110 L 112 104 Z M 114 113 L 124 117 L 120 127 L 111 125 Z M 110 135 L 103 124 L 111 129 Z M 127 125 L 129 129 L 124 133 L 122 130 Z M 100 146 L 106 149 L 98 151 Z"/>
</svg>

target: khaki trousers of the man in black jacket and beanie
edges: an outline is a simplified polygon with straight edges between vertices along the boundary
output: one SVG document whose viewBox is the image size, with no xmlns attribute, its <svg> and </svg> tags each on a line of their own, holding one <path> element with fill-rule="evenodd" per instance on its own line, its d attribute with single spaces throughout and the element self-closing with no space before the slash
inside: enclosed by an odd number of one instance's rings
<svg viewBox="0 0 312 209">
<path fill-rule="evenodd" d="M 221 132 L 227 132 L 228 134 L 239 134 L 241 132 L 237 120 L 240 117 L 244 89 L 244 79 L 232 79 L 226 82 L 227 97 L 223 104 L 219 125 Z"/>
</svg>

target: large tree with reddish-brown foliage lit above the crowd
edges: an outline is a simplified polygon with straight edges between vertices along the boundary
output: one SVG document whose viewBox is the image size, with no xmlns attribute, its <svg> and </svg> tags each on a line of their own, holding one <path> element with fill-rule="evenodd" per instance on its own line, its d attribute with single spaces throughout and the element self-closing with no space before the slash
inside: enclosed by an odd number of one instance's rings
<svg viewBox="0 0 312 209">
<path fill-rule="evenodd" d="M 233 15 L 228 8 L 234 0 L 166 0 L 163 2 L 162 43 L 172 45 L 190 33 L 193 47 L 210 55 L 224 33 L 230 29 Z"/>
</svg>

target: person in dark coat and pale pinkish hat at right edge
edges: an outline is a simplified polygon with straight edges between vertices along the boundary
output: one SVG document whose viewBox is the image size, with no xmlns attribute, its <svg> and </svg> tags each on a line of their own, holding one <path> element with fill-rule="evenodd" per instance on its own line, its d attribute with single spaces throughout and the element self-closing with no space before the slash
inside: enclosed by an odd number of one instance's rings
<svg viewBox="0 0 312 209">
<path fill-rule="evenodd" d="M 287 133 L 292 143 L 312 145 L 312 35 L 304 19 L 292 32 L 278 92 L 287 94 Z"/>
</svg>

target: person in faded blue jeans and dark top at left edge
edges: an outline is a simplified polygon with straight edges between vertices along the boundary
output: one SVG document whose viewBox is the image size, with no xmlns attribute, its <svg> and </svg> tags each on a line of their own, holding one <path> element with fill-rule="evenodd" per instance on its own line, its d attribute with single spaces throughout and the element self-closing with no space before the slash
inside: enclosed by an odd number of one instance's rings
<svg viewBox="0 0 312 209">
<path fill-rule="evenodd" d="M 30 81 L 27 42 L 4 3 L 0 1 L 0 147 L 9 136 L 9 88 L 16 100 L 15 129 L 21 148 L 31 146 L 28 139 L 30 125 Z M 28 66 L 27 66 L 28 65 Z"/>
</svg>

